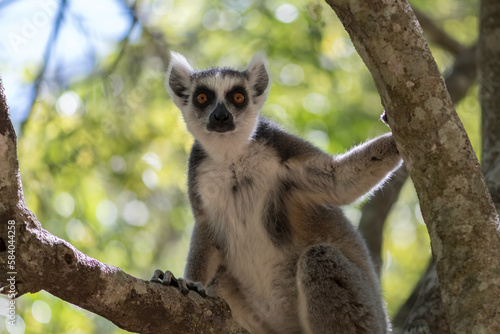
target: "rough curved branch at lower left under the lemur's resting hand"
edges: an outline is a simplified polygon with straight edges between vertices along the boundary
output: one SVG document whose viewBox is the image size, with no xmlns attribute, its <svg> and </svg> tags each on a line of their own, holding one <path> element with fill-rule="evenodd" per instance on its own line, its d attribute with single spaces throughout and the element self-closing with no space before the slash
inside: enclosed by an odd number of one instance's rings
<svg viewBox="0 0 500 334">
<path fill-rule="evenodd" d="M 23 199 L 16 135 L 2 87 L 0 81 L 0 287 L 3 293 L 15 291 L 16 296 L 20 296 L 43 289 L 132 332 L 247 333 L 232 320 L 223 300 L 205 299 L 194 292 L 183 296 L 175 287 L 132 277 L 86 256 L 41 227 Z M 9 238 L 11 226 L 15 226 L 15 238 Z M 9 247 L 11 245 L 15 248 Z M 15 254 L 15 263 L 8 263 L 8 255 L 12 254 Z M 11 289 L 10 282 L 15 282 L 12 285 L 15 290 Z"/>
</svg>

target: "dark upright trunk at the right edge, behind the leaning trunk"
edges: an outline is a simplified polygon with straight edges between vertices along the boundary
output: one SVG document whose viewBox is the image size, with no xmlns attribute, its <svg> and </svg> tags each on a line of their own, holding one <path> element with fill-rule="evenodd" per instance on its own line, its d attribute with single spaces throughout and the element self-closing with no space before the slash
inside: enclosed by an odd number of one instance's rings
<svg viewBox="0 0 500 334">
<path fill-rule="evenodd" d="M 479 31 L 481 164 L 493 201 L 500 208 L 500 3 L 482 0 Z"/>
</svg>

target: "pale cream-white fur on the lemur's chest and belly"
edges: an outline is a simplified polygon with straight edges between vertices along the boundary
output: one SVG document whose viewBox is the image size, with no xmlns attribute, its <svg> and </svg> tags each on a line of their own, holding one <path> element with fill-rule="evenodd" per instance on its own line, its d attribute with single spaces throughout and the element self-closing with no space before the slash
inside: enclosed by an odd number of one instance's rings
<svg viewBox="0 0 500 334">
<path fill-rule="evenodd" d="M 278 158 L 250 142 L 242 156 L 222 162 L 208 158 L 198 170 L 199 193 L 216 239 L 227 240 L 227 269 L 255 297 L 269 298 L 283 254 L 269 239 L 262 213 L 280 173 Z"/>
</svg>

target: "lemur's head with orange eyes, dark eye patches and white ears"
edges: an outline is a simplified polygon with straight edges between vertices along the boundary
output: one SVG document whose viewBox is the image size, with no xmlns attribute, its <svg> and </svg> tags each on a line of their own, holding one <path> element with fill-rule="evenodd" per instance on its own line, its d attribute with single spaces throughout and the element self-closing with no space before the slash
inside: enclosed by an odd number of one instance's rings
<svg viewBox="0 0 500 334">
<path fill-rule="evenodd" d="M 207 146 L 248 142 L 267 97 L 270 79 L 263 54 L 244 71 L 211 68 L 195 71 L 184 56 L 172 52 L 166 86 L 182 111 L 188 130 Z"/>
</svg>

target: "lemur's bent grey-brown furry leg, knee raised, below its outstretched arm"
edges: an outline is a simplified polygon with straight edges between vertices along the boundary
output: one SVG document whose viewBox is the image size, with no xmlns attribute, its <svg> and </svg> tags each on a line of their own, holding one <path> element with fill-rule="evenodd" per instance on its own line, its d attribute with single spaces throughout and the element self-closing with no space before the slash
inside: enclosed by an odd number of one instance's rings
<svg viewBox="0 0 500 334">
<path fill-rule="evenodd" d="M 307 248 L 298 262 L 297 284 L 299 316 L 305 333 L 386 332 L 373 286 L 335 246 L 318 244 Z"/>
</svg>

